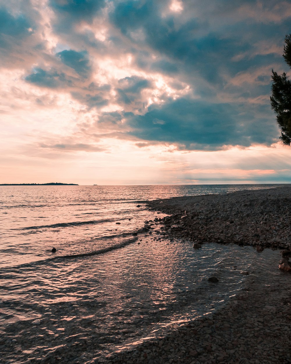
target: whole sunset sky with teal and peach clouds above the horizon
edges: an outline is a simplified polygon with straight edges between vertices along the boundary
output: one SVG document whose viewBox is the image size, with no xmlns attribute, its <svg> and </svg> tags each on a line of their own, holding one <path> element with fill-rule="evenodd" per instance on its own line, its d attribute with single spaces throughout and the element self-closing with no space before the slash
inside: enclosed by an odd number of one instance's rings
<svg viewBox="0 0 291 364">
<path fill-rule="evenodd" d="M 291 1 L 0 0 L 0 183 L 291 183 Z"/>
</svg>

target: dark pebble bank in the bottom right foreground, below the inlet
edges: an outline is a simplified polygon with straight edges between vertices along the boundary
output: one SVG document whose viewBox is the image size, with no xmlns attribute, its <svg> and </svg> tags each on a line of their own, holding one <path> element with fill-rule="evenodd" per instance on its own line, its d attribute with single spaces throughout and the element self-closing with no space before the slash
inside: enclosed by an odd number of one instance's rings
<svg viewBox="0 0 291 364">
<path fill-rule="evenodd" d="M 291 277 L 281 273 L 268 285 L 248 276 L 246 290 L 223 309 L 106 363 L 290 364 Z"/>
</svg>

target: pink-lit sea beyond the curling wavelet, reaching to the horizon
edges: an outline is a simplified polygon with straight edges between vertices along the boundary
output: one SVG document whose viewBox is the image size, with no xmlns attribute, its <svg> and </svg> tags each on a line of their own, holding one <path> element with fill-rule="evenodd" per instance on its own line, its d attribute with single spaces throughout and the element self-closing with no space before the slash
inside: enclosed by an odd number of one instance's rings
<svg viewBox="0 0 291 364">
<path fill-rule="evenodd" d="M 152 199 L 276 186 L 0 186 L 0 266 L 119 246 L 155 216 Z"/>
</svg>

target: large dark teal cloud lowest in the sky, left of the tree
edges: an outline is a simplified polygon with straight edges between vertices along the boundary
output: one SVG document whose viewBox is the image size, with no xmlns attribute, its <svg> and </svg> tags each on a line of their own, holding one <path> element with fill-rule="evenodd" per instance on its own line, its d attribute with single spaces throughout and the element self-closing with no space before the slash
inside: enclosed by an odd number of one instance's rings
<svg viewBox="0 0 291 364">
<path fill-rule="evenodd" d="M 236 110 L 229 104 L 213 104 L 180 98 L 161 107 L 151 106 L 145 115 L 125 114 L 132 127 L 130 135 L 148 141 L 177 143 L 181 149 L 220 149 L 227 145 L 250 146 L 271 143 L 275 127 L 254 119 L 252 112 Z"/>
</svg>

